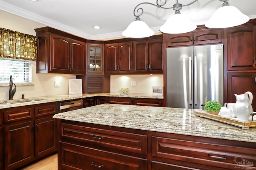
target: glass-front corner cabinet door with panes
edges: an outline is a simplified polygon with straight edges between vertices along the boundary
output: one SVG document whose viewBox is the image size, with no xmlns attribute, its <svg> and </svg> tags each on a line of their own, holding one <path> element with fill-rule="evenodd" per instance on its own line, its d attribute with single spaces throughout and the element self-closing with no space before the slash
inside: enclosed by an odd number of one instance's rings
<svg viewBox="0 0 256 170">
<path fill-rule="evenodd" d="M 88 44 L 88 73 L 103 73 L 103 45 Z"/>
</svg>

